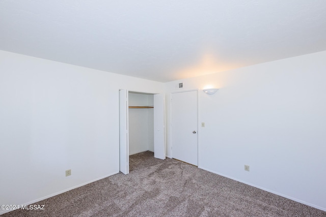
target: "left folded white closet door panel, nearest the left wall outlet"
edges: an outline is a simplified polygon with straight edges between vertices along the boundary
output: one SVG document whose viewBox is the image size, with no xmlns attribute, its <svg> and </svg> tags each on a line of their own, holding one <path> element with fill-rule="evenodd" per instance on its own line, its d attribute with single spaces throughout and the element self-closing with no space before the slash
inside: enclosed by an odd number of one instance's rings
<svg viewBox="0 0 326 217">
<path fill-rule="evenodd" d="M 128 91 L 119 90 L 119 122 L 120 122 L 120 171 L 129 173 L 129 120 Z"/>
</svg>

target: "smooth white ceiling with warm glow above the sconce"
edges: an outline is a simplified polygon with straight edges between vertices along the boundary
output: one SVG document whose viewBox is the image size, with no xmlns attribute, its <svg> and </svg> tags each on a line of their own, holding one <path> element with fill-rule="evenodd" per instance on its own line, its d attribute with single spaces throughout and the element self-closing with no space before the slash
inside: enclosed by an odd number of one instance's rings
<svg viewBox="0 0 326 217">
<path fill-rule="evenodd" d="M 166 82 L 326 50 L 326 2 L 0 0 L 0 50 Z"/>
</svg>

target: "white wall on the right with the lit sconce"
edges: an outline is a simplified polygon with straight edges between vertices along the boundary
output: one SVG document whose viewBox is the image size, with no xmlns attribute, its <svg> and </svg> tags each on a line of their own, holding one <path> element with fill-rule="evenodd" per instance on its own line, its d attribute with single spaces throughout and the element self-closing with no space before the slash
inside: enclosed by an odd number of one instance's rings
<svg viewBox="0 0 326 217">
<path fill-rule="evenodd" d="M 200 168 L 326 210 L 326 51 L 166 83 L 167 110 L 179 82 L 200 89 Z"/>
</svg>

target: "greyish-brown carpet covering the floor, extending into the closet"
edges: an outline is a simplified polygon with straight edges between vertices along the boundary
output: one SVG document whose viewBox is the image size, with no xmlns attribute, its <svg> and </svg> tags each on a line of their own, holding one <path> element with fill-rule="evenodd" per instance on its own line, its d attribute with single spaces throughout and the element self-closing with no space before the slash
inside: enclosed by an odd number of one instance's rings
<svg viewBox="0 0 326 217">
<path fill-rule="evenodd" d="M 326 212 L 152 152 L 132 170 L 37 202 L 45 210 L 3 216 L 326 216 Z M 148 164 L 146 164 L 146 162 Z"/>
</svg>

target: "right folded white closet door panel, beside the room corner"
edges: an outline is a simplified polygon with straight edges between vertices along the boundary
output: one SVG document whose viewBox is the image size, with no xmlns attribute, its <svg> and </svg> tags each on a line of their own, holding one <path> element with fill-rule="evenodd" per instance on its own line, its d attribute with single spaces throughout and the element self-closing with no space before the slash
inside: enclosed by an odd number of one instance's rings
<svg viewBox="0 0 326 217">
<path fill-rule="evenodd" d="M 164 160 L 165 153 L 165 121 L 164 95 L 154 96 L 154 157 Z"/>
</svg>

